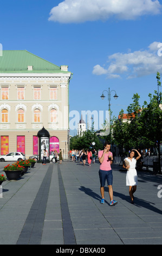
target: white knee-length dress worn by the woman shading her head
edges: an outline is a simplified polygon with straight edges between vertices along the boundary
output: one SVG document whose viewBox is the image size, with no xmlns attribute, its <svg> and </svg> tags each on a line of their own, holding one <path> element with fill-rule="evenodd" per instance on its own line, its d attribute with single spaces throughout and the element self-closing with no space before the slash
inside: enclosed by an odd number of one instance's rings
<svg viewBox="0 0 162 256">
<path fill-rule="evenodd" d="M 126 160 L 129 162 L 130 166 L 130 168 L 127 170 L 126 186 L 136 186 L 138 184 L 137 170 L 135 169 L 137 160 L 133 158 L 131 161 L 131 159 L 128 159 L 128 157 L 126 158 Z"/>
</svg>

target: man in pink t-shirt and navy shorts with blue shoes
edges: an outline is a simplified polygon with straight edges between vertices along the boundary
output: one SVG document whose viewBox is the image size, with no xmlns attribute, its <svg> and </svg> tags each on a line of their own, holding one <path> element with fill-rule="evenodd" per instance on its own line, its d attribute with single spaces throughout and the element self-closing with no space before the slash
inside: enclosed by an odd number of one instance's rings
<svg viewBox="0 0 162 256">
<path fill-rule="evenodd" d="M 111 143 L 105 142 L 104 149 L 99 151 L 98 157 L 100 162 L 100 170 L 99 170 L 99 177 L 100 177 L 100 191 L 101 191 L 101 204 L 105 203 L 105 197 L 104 197 L 104 187 L 105 182 L 107 180 L 108 185 L 108 192 L 109 192 L 109 198 L 110 198 L 110 204 L 109 205 L 115 205 L 118 202 L 113 200 L 113 174 L 112 174 L 112 168 L 111 164 L 113 163 L 113 154 L 110 151 L 111 149 Z"/>
</svg>

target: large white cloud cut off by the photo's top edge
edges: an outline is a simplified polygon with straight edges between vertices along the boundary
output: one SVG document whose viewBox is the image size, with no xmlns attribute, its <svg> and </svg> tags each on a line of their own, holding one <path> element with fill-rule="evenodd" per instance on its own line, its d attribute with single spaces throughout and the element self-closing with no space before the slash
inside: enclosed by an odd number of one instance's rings
<svg viewBox="0 0 162 256">
<path fill-rule="evenodd" d="M 49 21 L 80 23 L 112 16 L 134 20 L 142 15 L 159 14 L 160 9 L 158 0 L 64 0 L 51 9 Z"/>
</svg>

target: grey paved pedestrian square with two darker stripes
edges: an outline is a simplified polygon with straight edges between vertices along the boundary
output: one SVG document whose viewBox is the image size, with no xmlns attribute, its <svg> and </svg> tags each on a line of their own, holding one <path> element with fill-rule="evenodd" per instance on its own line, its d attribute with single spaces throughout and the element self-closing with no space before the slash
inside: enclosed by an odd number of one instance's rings
<svg viewBox="0 0 162 256">
<path fill-rule="evenodd" d="M 21 179 L 3 182 L 0 244 L 161 245 L 162 176 L 138 173 L 131 204 L 126 172 L 118 164 L 112 169 L 115 206 L 109 206 L 107 187 L 100 204 L 98 162 L 36 163 Z"/>
</svg>

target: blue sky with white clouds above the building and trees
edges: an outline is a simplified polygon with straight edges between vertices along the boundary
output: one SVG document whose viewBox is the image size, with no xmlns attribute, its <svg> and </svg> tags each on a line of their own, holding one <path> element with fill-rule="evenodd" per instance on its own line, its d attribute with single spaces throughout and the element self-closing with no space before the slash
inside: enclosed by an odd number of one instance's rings
<svg viewBox="0 0 162 256">
<path fill-rule="evenodd" d="M 157 90 L 162 80 L 162 1 L 153 0 L 5 0 L 0 5 L 3 50 L 28 50 L 73 72 L 70 111 L 105 111 L 112 115 L 140 95 Z M 158 47 L 160 46 L 160 47 Z M 161 49 L 161 51 L 160 51 Z M 161 88 L 160 88 L 161 91 Z M 76 130 L 70 130 L 74 135 Z"/>
</svg>

